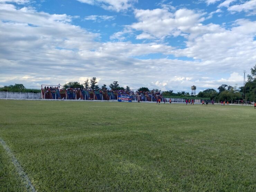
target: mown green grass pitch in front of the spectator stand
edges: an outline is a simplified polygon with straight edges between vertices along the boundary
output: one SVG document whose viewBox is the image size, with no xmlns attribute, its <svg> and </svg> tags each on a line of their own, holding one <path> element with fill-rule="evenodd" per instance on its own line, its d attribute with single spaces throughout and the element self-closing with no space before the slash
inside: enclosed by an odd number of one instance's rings
<svg viewBox="0 0 256 192">
<path fill-rule="evenodd" d="M 0 100 L 37 191 L 256 191 L 253 107 Z M 0 144 L 0 191 L 26 191 Z"/>
</svg>

